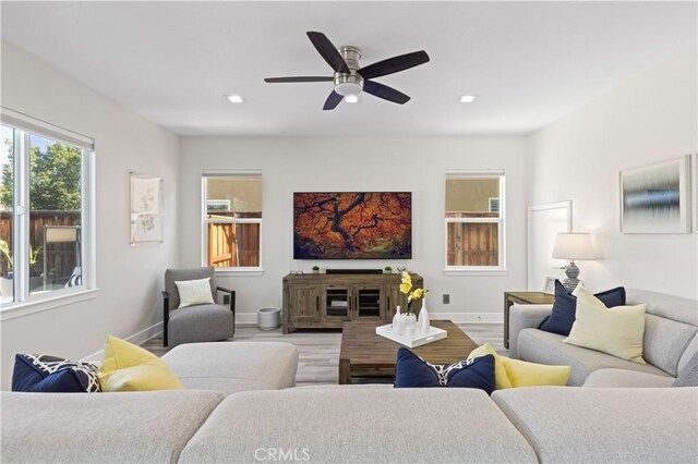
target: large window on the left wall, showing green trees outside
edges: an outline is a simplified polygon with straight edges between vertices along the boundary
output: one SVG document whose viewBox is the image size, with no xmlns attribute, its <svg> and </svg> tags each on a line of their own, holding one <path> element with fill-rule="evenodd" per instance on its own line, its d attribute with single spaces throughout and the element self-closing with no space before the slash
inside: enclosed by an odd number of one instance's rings
<svg viewBox="0 0 698 464">
<path fill-rule="evenodd" d="M 0 301 L 85 290 L 86 191 L 92 141 L 2 110 Z M 89 266 L 88 266 L 89 267 Z"/>
</svg>

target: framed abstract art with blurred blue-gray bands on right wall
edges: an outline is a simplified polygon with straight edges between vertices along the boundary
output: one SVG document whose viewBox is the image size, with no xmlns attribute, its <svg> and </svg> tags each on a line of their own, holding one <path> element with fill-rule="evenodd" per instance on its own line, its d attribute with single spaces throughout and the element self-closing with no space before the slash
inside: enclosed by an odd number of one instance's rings
<svg viewBox="0 0 698 464">
<path fill-rule="evenodd" d="M 621 171 L 622 233 L 690 232 L 690 156 Z"/>
</svg>

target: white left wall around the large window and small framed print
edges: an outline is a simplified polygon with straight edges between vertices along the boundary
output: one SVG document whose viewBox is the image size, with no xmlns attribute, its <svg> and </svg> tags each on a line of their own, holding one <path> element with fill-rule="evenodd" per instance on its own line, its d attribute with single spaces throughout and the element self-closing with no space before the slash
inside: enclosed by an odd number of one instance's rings
<svg viewBox="0 0 698 464">
<path fill-rule="evenodd" d="M 43 313 L 11 319 L 3 315 L 2 388 L 8 389 L 17 352 L 81 358 L 101 350 L 107 333 L 136 334 L 137 342 L 157 329 L 152 326 L 161 320 L 163 273 L 177 265 L 179 254 L 179 139 L 7 42 L 1 102 L 94 138 L 97 185 L 99 292 L 94 300 Z M 164 244 L 128 244 L 129 171 L 164 178 Z"/>
</svg>

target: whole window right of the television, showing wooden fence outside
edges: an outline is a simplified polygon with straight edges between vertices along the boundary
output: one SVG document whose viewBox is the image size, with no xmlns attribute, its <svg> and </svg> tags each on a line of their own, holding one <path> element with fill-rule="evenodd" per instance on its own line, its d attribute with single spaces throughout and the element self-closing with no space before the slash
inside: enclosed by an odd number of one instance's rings
<svg viewBox="0 0 698 464">
<path fill-rule="evenodd" d="M 446 270 L 504 270 L 504 172 L 446 174 Z"/>
</svg>

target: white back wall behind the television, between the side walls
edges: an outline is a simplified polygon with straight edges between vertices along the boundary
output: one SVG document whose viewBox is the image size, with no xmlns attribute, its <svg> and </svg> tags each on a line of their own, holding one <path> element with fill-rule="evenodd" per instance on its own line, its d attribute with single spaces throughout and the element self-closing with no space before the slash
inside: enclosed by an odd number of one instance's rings
<svg viewBox="0 0 698 464">
<path fill-rule="evenodd" d="M 459 320 L 502 321 L 505 290 L 526 285 L 525 141 L 493 138 L 232 138 L 185 137 L 181 145 L 181 261 L 201 264 L 201 172 L 261 169 L 263 175 L 262 277 L 224 278 L 238 291 L 239 321 L 256 309 L 281 305 L 281 278 L 292 269 L 383 268 L 400 261 L 294 261 L 293 192 L 412 192 L 413 259 L 431 290 L 432 313 Z M 508 274 L 446 277 L 444 173 L 446 169 L 505 169 Z M 442 304 L 442 294 L 450 304 Z M 478 319 L 480 317 L 481 319 Z"/>
</svg>

